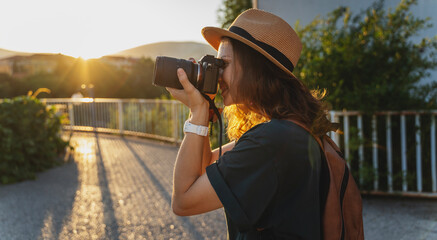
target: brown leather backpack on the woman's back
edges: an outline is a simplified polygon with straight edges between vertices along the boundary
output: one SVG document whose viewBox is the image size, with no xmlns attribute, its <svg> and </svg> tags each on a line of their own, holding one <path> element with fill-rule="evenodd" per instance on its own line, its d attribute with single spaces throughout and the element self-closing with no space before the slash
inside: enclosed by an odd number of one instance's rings
<svg viewBox="0 0 437 240">
<path fill-rule="evenodd" d="M 292 122 L 311 133 L 305 125 L 296 121 Z M 362 240 L 364 239 L 364 230 L 361 194 L 343 154 L 327 135 L 322 138 L 314 135 L 313 137 L 324 153 L 322 154 L 320 182 L 323 239 Z M 322 189 L 323 184 L 326 185 L 325 190 Z"/>
</svg>

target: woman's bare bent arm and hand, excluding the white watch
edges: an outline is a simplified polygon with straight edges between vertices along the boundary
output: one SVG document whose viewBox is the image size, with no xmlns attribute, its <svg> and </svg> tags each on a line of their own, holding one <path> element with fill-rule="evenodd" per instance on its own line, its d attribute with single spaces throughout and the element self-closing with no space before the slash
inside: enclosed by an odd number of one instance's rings
<svg viewBox="0 0 437 240">
<path fill-rule="evenodd" d="M 168 88 L 168 91 L 191 110 L 189 121 L 195 125 L 208 126 L 209 106 L 200 92 L 189 82 L 182 69 L 178 69 L 179 80 L 184 90 Z M 173 175 L 172 208 L 177 215 L 187 216 L 209 212 L 222 207 L 206 174 L 202 175 L 205 137 L 186 133 L 182 141 Z M 208 143 L 209 144 L 209 143 Z M 209 146 L 208 146 L 209 148 Z M 210 148 L 209 151 L 211 152 Z M 211 159 L 213 153 L 211 152 Z"/>
</svg>

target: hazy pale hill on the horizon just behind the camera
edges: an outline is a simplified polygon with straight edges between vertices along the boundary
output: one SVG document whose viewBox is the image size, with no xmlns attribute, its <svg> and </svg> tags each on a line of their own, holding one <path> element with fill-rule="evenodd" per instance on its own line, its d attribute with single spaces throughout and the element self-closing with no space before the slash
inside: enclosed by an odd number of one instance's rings
<svg viewBox="0 0 437 240">
<path fill-rule="evenodd" d="M 108 56 L 119 57 L 150 57 L 153 60 L 157 56 L 169 56 L 187 59 L 193 57 L 199 60 L 205 54 L 216 55 L 216 51 L 209 45 L 197 42 L 159 42 L 146 44 L 139 47 L 127 49 Z"/>
</svg>

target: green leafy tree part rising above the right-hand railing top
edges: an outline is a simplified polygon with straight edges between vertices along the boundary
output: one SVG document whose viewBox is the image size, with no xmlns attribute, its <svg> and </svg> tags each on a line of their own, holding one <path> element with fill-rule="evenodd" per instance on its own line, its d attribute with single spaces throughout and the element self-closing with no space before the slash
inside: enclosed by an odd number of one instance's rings
<svg viewBox="0 0 437 240">
<path fill-rule="evenodd" d="M 297 24 L 303 51 L 296 76 L 310 88 L 328 91 L 334 109 L 403 110 L 436 103 L 436 83 L 418 86 L 437 66 L 437 36 L 413 36 L 431 27 L 410 12 L 417 0 L 403 0 L 394 11 L 384 1 L 353 15 L 340 7 L 326 19 Z"/>
</svg>

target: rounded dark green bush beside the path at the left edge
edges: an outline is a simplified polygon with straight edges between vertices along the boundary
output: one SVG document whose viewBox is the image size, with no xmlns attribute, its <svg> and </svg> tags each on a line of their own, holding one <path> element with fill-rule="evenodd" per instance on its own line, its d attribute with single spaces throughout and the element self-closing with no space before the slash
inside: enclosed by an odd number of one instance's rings
<svg viewBox="0 0 437 240">
<path fill-rule="evenodd" d="M 60 136 L 61 117 L 32 96 L 0 103 L 0 183 L 35 178 L 59 165 L 69 145 Z"/>
</svg>

